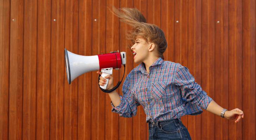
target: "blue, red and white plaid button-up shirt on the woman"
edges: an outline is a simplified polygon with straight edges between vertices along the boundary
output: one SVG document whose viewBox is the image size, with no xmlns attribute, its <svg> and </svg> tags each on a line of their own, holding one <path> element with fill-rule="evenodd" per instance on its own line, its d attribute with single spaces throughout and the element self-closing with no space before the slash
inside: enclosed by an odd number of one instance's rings
<svg viewBox="0 0 256 140">
<path fill-rule="evenodd" d="M 124 80 L 122 92 L 118 106 L 111 102 L 112 111 L 132 117 L 142 105 L 147 122 L 198 115 L 203 112 L 200 107 L 206 110 L 212 101 L 185 66 L 162 58 L 149 67 L 149 73 L 143 63 L 136 66 Z"/>
</svg>

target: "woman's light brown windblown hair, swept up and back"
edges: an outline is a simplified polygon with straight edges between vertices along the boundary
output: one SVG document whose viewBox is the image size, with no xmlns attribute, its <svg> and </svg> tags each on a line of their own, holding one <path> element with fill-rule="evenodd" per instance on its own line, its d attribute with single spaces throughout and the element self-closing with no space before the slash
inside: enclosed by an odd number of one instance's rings
<svg viewBox="0 0 256 140">
<path fill-rule="evenodd" d="M 163 53 L 167 48 L 167 42 L 164 32 L 158 26 L 147 23 L 146 18 L 136 8 L 122 8 L 118 10 L 112 6 L 112 9 L 112 12 L 120 18 L 121 22 L 132 26 L 132 30 L 127 33 L 129 40 L 135 42 L 137 37 L 142 37 L 147 42 L 154 43 L 159 57 L 164 59 Z"/>
</svg>

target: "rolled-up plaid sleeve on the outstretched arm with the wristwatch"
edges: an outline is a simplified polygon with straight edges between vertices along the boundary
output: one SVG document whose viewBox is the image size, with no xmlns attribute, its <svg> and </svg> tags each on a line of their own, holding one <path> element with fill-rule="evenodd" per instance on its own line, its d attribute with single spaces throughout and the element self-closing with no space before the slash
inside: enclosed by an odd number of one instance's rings
<svg viewBox="0 0 256 140">
<path fill-rule="evenodd" d="M 201 86 L 194 81 L 194 77 L 185 66 L 179 66 L 175 77 L 175 85 L 180 87 L 181 97 L 193 105 L 200 106 L 206 110 L 212 101 Z"/>
</svg>

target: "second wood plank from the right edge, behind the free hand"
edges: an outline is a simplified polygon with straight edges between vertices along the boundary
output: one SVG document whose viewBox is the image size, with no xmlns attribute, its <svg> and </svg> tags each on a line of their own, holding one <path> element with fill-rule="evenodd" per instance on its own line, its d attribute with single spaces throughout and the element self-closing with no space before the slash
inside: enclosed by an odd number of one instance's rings
<svg viewBox="0 0 256 140">
<path fill-rule="evenodd" d="M 229 1 L 229 110 L 241 108 L 242 29 L 241 1 Z M 242 124 L 229 121 L 229 139 L 241 139 Z"/>
</svg>

